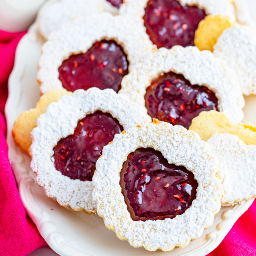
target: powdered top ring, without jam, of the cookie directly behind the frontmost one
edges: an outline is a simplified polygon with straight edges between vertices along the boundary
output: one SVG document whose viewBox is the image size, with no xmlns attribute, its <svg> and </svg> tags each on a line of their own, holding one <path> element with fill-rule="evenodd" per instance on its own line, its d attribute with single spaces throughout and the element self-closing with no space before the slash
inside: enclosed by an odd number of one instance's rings
<svg viewBox="0 0 256 256">
<path fill-rule="evenodd" d="M 209 88 L 218 99 L 219 111 L 236 123 L 243 120 L 245 101 L 233 72 L 210 51 L 200 52 L 195 46 L 158 49 L 123 78 L 119 93 L 128 95 L 147 112 L 144 99 L 146 88 L 161 73 L 169 71 L 184 75 L 192 85 Z"/>
</svg>

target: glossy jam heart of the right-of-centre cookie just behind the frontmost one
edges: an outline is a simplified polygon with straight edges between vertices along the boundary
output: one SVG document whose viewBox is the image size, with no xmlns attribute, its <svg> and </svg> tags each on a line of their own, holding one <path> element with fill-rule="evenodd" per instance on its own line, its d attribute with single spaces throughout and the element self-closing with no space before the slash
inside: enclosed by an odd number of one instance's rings
<svg viewBox="0 0 256 256">
<path fill-rule="evenodd" d="M 201 111 L 217 110 L 218 99 L 208 88 L 191 85 L 183 75 L 168 72 L 147 88 L 145 105 L 152 118 L 188 129 Z"/>
</svg>

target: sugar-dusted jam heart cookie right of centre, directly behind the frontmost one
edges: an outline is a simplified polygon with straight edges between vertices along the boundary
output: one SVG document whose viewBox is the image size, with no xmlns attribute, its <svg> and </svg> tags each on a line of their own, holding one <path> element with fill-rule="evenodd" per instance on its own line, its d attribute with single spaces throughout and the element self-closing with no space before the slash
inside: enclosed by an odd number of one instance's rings
<svg viewBox="0 0 256 256">
<path fill-rule="evenodd" d="M 124 93 L 152 118 L 187 129 L 201 111 L 218 110 L 241 122 L 245 101 L 233 73 L 210 51 L 195 46 L 158 49 L 134 66 L 121 83 Z"/>
</svg>

